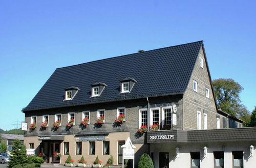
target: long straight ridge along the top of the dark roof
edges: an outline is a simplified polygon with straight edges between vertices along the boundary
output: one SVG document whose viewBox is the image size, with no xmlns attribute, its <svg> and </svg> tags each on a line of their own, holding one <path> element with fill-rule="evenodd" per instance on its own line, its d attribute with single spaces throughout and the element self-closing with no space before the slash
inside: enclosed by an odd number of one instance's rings
<svg viewBox="0 0 256 168">
<path fill-rule="evenodd" d="M 177 46 L 187 45 L 187 44 L 192 44 L 192 43 L 198 43 L 198 42 L 203 42 L 203 40 L 190 42 L 190 43 L 184 43 L 184 44 L 178 44 L 178 45 L 173 45 L 173 46 L 168 46 L 168 47 L 162 47 L 162 48 L 157 48 L 157 49 L 152 49 L 152 50 L 147 50 L 147 51 L 144 51 L 144 52 L 135 52 L 135 53 L 130 53 L 130 54 L 124 54 L 124 55 L 119 55 L 119 56 L 116 56 L 116 57 L 110 57 L 110 58 L 106 58 L 106 59 L 95 60 L 95 61 L 90 61 L 90 62 L 76 64 L 76 65 L 70 65 L 70 66 L 60 67 L 60 68 L 56 68 L 56 69 L 68 68 L 68 67 L 73 67 L 73 66 L 78 66 L 78 65 L 83 65 L 83 64 L 89 64 L 89 63 L 93 63 L 93 62 L 99 62 L 99 61 L 109 60 L 109 59 L 114 59 L 114 58 L 119 58 L 119 57 L 125 57 L 125 56 L 128 56 L 128 55 L 131 56 L 131 55 L 134 55 L 134 54 L 145 53 L 145 52 L 150 52 L 150 51 L 164 49 L 164 48 L 172 48 L 172 47 L 177 47 Z"/>
</svg>

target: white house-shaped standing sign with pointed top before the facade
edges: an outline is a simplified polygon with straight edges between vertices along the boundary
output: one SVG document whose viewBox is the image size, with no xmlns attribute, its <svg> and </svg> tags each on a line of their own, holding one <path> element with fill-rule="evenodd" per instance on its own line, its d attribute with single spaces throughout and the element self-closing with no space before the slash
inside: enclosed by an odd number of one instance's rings
<svg viewBox="0 0 256 168">
<path fill-rule="evenodd" d="M 133 159 L 133 167 L 134 167 L 134 149 L 136 148 L 130 137 L 127 138 L 124 145 L 121 146 L 123 148 L 123 163 L 124 159 Z"/>
</svg>

